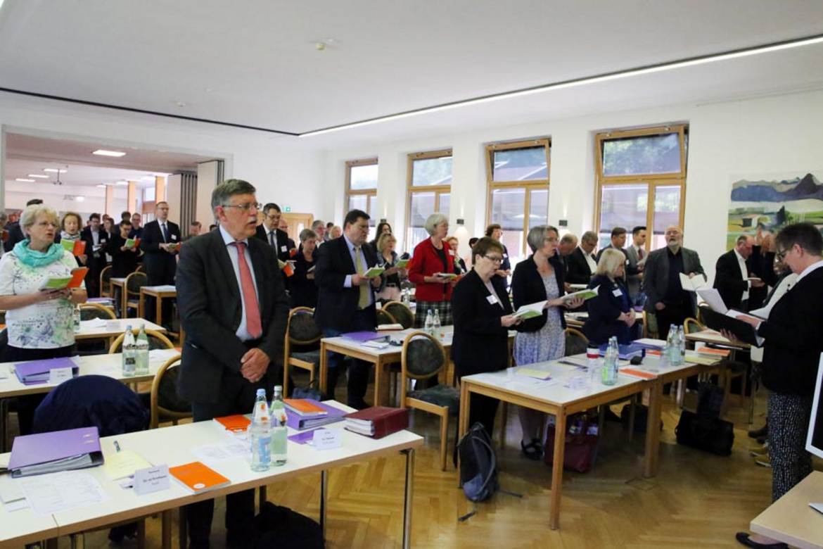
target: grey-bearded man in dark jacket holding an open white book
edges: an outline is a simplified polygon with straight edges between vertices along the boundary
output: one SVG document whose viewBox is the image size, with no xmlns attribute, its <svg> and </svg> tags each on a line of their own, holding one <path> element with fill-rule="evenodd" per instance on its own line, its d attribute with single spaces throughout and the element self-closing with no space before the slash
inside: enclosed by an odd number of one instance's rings
<svg viewBox="0 0 823 549">
<path fill-rule="evenodd" d="M 683 248 L 680 227 L 669 226 L 666 229 L 666 248 L 649 254 L 643 276 L 646 290 L 644 309 L 656 315 L 661 339 L 666 338 L 671 324 L 679 326 L 684 320 L 695 316 L 697 294 L 683 290 L 681 273 L 689 278 L 706 278 L 697 252 Z"/>
</svg>

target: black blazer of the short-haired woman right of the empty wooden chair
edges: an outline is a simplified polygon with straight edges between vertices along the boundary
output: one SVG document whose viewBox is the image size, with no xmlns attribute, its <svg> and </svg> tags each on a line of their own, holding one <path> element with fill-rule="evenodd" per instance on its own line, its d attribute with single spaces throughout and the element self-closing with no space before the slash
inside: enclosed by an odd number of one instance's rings
<svg viewBox="0 0 823 549">
<path fill-rule="evenodd" d="M 452 360 L 459 376 L 502 370 L 509 364 L 509 330 L 500 326 L 500 317 L 512 314 L 512 305 L 503 277 L 492 276 L 491 285 L 503 300 L 502 308 L 489 302 L 491 293 L 473 269 L 452 291 Z"/>
</svg>

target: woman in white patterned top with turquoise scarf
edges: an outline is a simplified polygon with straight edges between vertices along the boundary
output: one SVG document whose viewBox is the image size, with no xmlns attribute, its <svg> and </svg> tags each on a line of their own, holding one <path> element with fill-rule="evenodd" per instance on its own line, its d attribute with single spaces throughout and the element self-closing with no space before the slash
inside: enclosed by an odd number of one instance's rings
<svg viewBox="0 0 823 549">
<path fill-rule="evenodd" d="M 71 277 L 77 262 L 54 243 L 57 212 L 43 204 L 26 207 L 20 218 L 26 240 L 0 259 L 0 309 L 5 309 L 8 346 L 4 362 L 37 361 L 70 356 L 74 347 L 74 304 L 86 301 L 85 287 L 43 290 L 53 278 Z M 21 398 L 22 435 L 42 396 Z"/>
</svg>

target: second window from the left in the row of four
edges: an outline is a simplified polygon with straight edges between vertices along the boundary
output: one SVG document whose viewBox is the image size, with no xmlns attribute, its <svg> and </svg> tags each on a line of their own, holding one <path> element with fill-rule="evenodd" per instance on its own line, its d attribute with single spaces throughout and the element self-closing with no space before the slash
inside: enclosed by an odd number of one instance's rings
<svg viewBox="0 0 823 549">
<path fill-rule="evenodd" d="M 429 238 L 425 220 L 433 213 L 449 215 L 452 192 L 452 151 L 417 152 L 409 155 L 409 193 L 406 249 Z"/>
</svg>

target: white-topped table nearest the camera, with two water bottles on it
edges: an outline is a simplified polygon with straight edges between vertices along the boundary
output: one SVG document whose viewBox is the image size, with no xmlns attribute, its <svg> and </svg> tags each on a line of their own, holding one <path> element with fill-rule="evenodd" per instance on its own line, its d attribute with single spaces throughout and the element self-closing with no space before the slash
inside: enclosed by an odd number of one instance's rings
<svg viewBox="0 0 823 549">
<path fill-rule="evenodd" d="M 334 403 L 347 411 L 351 408 L 342 404 Z M 235 458 L 218 463 L 210 463 L 209 466 L 230 479 L 231 484 L 207 491 L 203 494 L 192 495 L 177 482 L 172 481 L 170 488 L 164 491 L 156 491 L 146 495 L 136 495 L 131 490 L 123 490 L 118 481 L 111 481 L 105 476 L 102 468 L 84 469 L 95 477 L 103 486 L 109 500 L 100 504 L 88 505 L 79 509 L 71 509 L 53 514 L 53 523 L 57 525 L 58 536 L 71 535 L 72 545 L 81 542 L 82 532 L 105 527 L 111 523 L 118 523 L 127 520 L 140 519 L 150 514 L 163 513 L 163 547 L 170 547 L 170 511 L 181 505 L 188 505 L 195 501 L 208 500 L 221 495 L 234 493 L 237 491 L 249 490 L 258 486 L 267 486 L 278 480 L 286 480 L 292 477 L 300 477 L 307 474 L 320 473 L 320 524 L 325 534 L 326 528 L 326 508 L 328 489 L 328 470 L 338 468 L 351 463 L 357 463 L 366 459 L 384 457 L 389 454 L 400 452 L 406 458 L 406 483 L 403 515 L 402 547 L 411 546 L 412 533 L 412 495 L 414 490 L 414 455 L 415 449 L 420 447 L 424 440 L 421 436 L 415 435 L 407 430 L 399 431 L 393 435 L 388 435 L 379 440 L 357 435 L 351 431 L 343 430 L 342 424 L 337 423 L 330 428 L 341 430 L 342 447 L 319 452 L 308 444 L 295 444 L 289 442 L 288 461 L 282 467 L 272 467 L 267 472 L 253 472 L 249 468 L 249 463 L 244 458 Z M 289 434 L 294 434 L 294 430 L 289 430 Z M 170 466 L 179 465 L 195 461 L 197 457 L 190 452 L 190 448 L 202 444 L 219 444 L 226 442 L 224 433 L 217 430 L 212 421 L 201 421 L 199 423 L 188 423 L 179 426 L 163 427 L 161 429 L 144 430 L 128 435 L 117 437 L 107 437 L 100 440 L 100 446 L 104 456 L 114 453 L 114 439 L 118 440 L 121 448 L 131 449 L 141 454 L 150 463 L 168 464 Z M 0 459 L 7 459 L 7 455 L 0 456 Z M 0 482 L 15 482 L 8 476 L 0 477 Z M 12 516 L 21 524 L 35 520 L 30 509 L 15 511 Z M 0 514 L 0 525 L 3 524 L 3 517 Z M 40 533 L 42 537 L 53 537 L 55 535 L 53 525 L 45 521 L 38 525 L 26 528 L 26 532 L 16 535 L 12 539 L 37 539 L 35 536 L 38 527 L 44 528 Z M 79 534 L 79 535 L 78 535 Z M 0 529 L 0 547 L 6 547 L 7 531 Z"/>
</svg>

